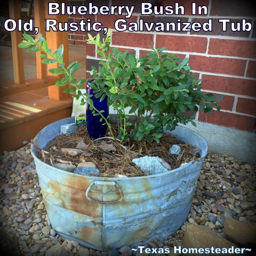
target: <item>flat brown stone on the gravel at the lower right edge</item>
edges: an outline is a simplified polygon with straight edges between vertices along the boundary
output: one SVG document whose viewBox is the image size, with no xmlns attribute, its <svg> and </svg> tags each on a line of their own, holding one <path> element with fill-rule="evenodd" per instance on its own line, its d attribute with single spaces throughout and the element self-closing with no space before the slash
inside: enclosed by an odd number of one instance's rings
<svg viewBox="0 0 256 256">
<path fill-rule="evenodd" d="M 256 245 L 256 227 L 245 221 L 227 218 L 224 225 L 224 233 L 241 245 Z"/>
</svg>

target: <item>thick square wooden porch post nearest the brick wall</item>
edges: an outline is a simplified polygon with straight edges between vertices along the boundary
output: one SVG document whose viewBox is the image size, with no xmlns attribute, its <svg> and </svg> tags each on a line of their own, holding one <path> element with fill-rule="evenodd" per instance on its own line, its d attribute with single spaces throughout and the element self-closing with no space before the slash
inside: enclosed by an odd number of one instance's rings
<svg viewBox="0 0 256 256">
<path fill-rule="evenodd" d="M 45 19 L 55 19 L 58 22 L 67 22 L 68 21 L 68 15 L 49 15 L 49 2 L 52 2 L 51 0 L 45 1 Z M 59 3 L 61 5 L 61 2 L 65 2 L 67 5 L 67 0 L 55 0 L 55 3 Z M 68 66 L 68 32 L 60 32 L 60 31 L 49 31 L 46 32 L 46 39 L 48 47 L 52 49 L 52 51 L 55 51 L 59 48 L 61 44 L 64 46 L 64 52 L 63 52 L 63 62 L 66 64 L 65 66 Z M 51 65 L 48 65 L 47 68 L 57 68 L 58 63 L 53 63 Z M 49 73 L 49 75 L 53 75 Z M 63 75 L 53 75 L 57 76 L 58 79 L 63 77 Z M 68 85 L 66 86 L 49 86 L 48 92 L 49 92 L 49 99 L 52 100 L 63 100 L 67 99 L 69 97 L 68 93 L 63 92 L 66 88 L 68 88 Z"/>
</svg>

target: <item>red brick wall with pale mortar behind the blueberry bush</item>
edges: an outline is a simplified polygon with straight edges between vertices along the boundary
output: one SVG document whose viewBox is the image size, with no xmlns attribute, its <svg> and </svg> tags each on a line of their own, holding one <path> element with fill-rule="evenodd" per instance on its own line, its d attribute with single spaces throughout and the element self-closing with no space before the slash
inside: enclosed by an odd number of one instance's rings
<svg viewBox="0 0 256 256">
<path fill-rule="evenodd" d="M 108 5 L 108 1 L 69 1 L 70 5 L 93 4 Z M 122 1 L 111 0 L 111 5 L 121 5 Z M 147 1 L 142 1 L 147 2 Z M 150 1 L 148 1 L 150 2 Z M 122 15 L 70 15 L 69 22 L 89 18 L 91 22 L 99 21 L 103 26 L 113 29 L 112 45 L 120 51 L 130 49 L 137 57 L 145 55 L 148 46 L 166 47 L 166 51 L 175 53 L 181 58 L 188 57 L 198 78 L 202 78 L 202 87 L 206 92 L 224 94 L 220 102 L 221 111 L 210 115 L 199 113 L 198 121 L 209 122 L 239 130 L 255 131 L 256 117 L 256 12 L 253 1 L 247 0 L 179 0 L 185 7 L 185 15 L 140 15 L 140 1 L 126 1 L 123 4 L 135 5 L 130 19 Z M 162 5 L 174 5 L 174 1 L 161 1 Z M 191 15 L 191 2 L 207 6 L 207 15 Z M 143 18 L 147 22 L 207 22 L 212 19 L 212 31 L 190 32 L 118 32 L 115 20 L 122 18 L 127 22 L 138 22 Z M 251 22 L 251 31 L 222 31 L 218 19 L 228 18 L 233 22 L 246 19 Z M 91 33 L 95 35 L 97 33 Z M 86 44 L 87 33 L 77 31 L 69 33 L 69 44 L 86 46 L 87 71 L 97 66 L 99 56 L 94 52 L 95 46 Z M 89 73 L 88 73 L 89 74 Z"/>
</svg>

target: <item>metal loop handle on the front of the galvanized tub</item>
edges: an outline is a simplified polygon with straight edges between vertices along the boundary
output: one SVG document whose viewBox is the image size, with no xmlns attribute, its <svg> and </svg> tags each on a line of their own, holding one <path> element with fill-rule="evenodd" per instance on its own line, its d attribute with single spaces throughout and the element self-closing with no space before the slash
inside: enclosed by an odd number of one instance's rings
<svg viewBox="0 0 256 256">
<path fill-rule="evenodd" d="M 93 187 L 95 187 L 95 186 L 101 186 L 102 187 L 101 191 L 102 191 L 102 194 L 103 194 L 103 198 L 105 197 L 104 195 L 109 193 L 109 189 L 111 187 L 116 187 L 117 191 L 118 191 L 118 194 L 119 194 L 119 198 L 116 199 L 116 200 L 108 200 L 108 201 L 107 200 L 103 201 L 103 200 L 98 200 L 98 199 L 92 198 L 92 197 L 89 196 L 89 191 L 91 189 L 93 189 Z M 122 189 L 118 186 L 118 184 L 115 181 L 95 180 L 87 188 L 85 196 L 86 196 L 86 198 L 88 200 L 90 200 L 92 202 L 95 202 L 95 203 L 99 203 L 99 204 L 116 204 L 116 203 L 119 203 L 119 202 L 121 202 L 123 200 L 124 193 L 123 193 Z"/>
</svg>

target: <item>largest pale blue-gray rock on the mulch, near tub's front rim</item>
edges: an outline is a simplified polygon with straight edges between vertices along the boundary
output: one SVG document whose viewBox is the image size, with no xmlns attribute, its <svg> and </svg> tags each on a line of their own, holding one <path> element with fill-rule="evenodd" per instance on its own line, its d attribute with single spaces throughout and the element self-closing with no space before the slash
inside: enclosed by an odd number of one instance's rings
<svg viewBox="0 0 256 256">
<path fill-rule="evenodd" d="M 169 171 L 159 162 L 158 157 L 156 156 L 134 158 L 132 162 L 145 172 L 146 175 L 154 175 Z"/>
</svg>

